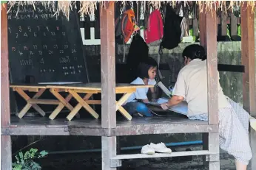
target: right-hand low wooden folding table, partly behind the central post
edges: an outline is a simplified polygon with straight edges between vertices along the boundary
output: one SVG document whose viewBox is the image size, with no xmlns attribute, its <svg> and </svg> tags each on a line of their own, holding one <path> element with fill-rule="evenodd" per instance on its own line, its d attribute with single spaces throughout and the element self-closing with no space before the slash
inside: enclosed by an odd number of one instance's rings
<svg viewBox="0 0 256 170">
<path fill-rule="evenodd" d="M 151 88 L 152 85 L 131 85 L 131 84 L 117 84 L 115 87 L 115 93 L 124 93 L 124 96 L 121 97 L 116 102 L 116 108 L 115 110 L 119 110 L 120 113 L 127 118 L 128 120 L 132 119 L 132 116 L 127 113 L 127 110 L 122 107 L 124 102 L 127 101 L 129 96 L 132 95 L 136 91 L 137 88 Z M 61 106 L 58 106 L 56 110 L 53 111 L 53 113 L 50 115 L 50 118 L 55 118 L 55 116 L 58 115 L 58 113 L 61 112 L 61 109 L 68 105 L 67 99 L 64 99 L 64 97 L 61 96 L 59 91 L 65 91 L 69 92 L 70 99 L 72 97 L 75 98 L 75 100 L 78 102 L 78 105 L 76 105 L 73 110 L 71 110 L 70 114 L 67 116 L 67 119 L 69 121 L 72 120 L 72 118 L 75 116 L 76 113 L 78 113 L 78 110 L 81 109 L 81 107 L 84 107 L 85 110 L 87 110 L 94 118 L 98 118 L 98 113 L 95 112 L 95 110 L 90 107 L 90 105 L 101 105 L 101 100 L 90 100 L 90 96 L 94 93 L 101 93 L 101 83 L 86 83 L 86 84 L 74 84 L 74 85 L 47 85 L 47 88 L 50 88 L 50 92 L 53 93 L 53 95 L 62 103 Z M 81 98 L 81 96 L 78 95 L 78 93 L 85 93 L 84 97 Z M 63 106 L 64 105 L 64 106 Z M 67 106 L 66 106 L 67 107 Z"/>
</svg>

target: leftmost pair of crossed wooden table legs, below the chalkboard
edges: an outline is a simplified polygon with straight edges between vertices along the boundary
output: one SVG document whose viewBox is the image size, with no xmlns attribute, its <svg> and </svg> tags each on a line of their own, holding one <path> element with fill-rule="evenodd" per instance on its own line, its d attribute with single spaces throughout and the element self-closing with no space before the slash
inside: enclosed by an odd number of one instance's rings
<svg viewBox="0 0 256 170">
<path fill-rule="evenodd" d="M 21 90 L 21 88 L 16 88 L 15 90 L 17 91 L 17 93 L 18 93 L 23 99 L 26 100 L 26 102 L 31 99 L 30 96 L 27 96 L 27 94 L 26 94 L 23 90 Z M 41 89 L 35 94 L 35 96 L 33 96 L 32 99 L 38 99 L 38 98 L 42 95 L 42 93 L 44 93 L 45 90 L 46 90 L 46 89 L 41 88 Z M 21 110 L 21 112 L 18 113 L 18 117 L 19 117 L 19 118 L 22 118 L 22 117 L 27 113 L 27 111 L 30 110 L 30 107 L 33 107 L 36 111 L 38 111 L 38 113 L 40 113 L 41 116 L 45 116 L 44 110 L 42 110 L 41 107 L 39 107 L 39 106 L 36 105 L 36 104 L 27 103 L 27 105 Z"/>
</svg>

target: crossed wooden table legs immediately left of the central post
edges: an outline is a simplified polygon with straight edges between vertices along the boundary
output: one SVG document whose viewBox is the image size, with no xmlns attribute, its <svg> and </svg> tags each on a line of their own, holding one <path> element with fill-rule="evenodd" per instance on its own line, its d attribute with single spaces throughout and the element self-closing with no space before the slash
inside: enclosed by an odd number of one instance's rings
<svg viewBox="0 0 256 170">
<path fill-rule="evenodd" d="M 78 102 L 78 105 L 76 105 L 74 110 L 72 110 L 71 113 L 67 116 L 67 119 L 69 121 L 72 120 L 73 116 L 75 116 L 75 113 L 77 113 L 77 111 L 80 110 L 81 107 L 84 107 L 84 109 L 87 110 L 94 118 L 98 118 L 98 113 L 96 113 L 95 110 L 93 110 L 92 107 L 90 107 L 90 105 L 88 105 L 86 102 L 86 100 L 89 99 L 90 96 L 92 96 L 92 93 L 87 93 L 87 95 L 84 96 L 83 99 L 75 91 L 69 90 L 69 92 Z"/>
</svg>

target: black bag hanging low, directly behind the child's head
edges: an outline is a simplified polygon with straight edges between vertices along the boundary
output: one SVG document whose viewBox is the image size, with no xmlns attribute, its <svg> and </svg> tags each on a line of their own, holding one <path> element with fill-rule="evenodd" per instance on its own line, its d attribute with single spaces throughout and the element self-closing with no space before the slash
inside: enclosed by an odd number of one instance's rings
<svg viewBox="0 0 256 170">
<path fill-rule="evenodd" d="M 137 78 L 138 65 L 141 61 L 146 60 L 149 56 L 149 46 L 141 35 L 135 34 L 132 38 L 132 43 L 129 46 L 129 52 L 127 56 L 127 67 L 129 68 L 130 75 L 128 77 L 129 82 L 132 82 Z"/>
</svg>

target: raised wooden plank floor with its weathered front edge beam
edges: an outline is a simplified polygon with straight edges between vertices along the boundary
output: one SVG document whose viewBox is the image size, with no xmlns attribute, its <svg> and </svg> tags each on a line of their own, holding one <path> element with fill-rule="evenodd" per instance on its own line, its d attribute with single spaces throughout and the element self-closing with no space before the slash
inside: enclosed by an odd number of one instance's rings
<svg viewBox="0 0 256 170">
<path fill-rule="evenodd" d="M 1 135 L 144 135 L 188 132 L 217 132 L 218 125 L 207 121 L 193 121 L 183 116 L 154 116 L 151 118 L 134 117 L 132 121 L 117 121 L 116 129 L 101 128 L 100 119 L 47 117 L 18 118 L 11 116 L 10 127 L 1 128 Z"/>
</svg>

